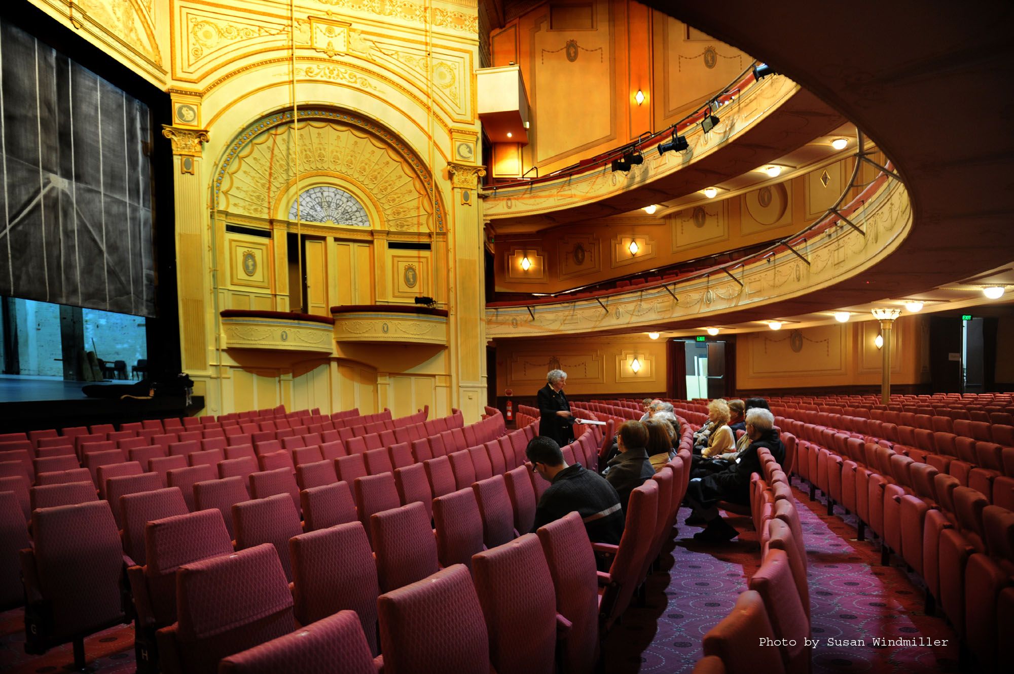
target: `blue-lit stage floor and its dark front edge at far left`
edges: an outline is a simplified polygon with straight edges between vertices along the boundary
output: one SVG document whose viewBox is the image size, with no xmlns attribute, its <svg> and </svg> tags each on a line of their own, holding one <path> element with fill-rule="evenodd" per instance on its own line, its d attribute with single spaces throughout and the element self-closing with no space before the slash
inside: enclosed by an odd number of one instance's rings
<svg viewBox="0 0 1014 674">
<path fill-rule="evenodd" d="M 106 384 L 131 393 L 136 381 L 65 382 L 52 376 L 0 375 L 0 433 L 93 424 L 121 424 L 144 419 L 189 416 L 204 407 L 203 396 L 193 396 L 190 407 L 184 396 L 150 400 L 89 398 L 81 389 Z"/>
</svg>

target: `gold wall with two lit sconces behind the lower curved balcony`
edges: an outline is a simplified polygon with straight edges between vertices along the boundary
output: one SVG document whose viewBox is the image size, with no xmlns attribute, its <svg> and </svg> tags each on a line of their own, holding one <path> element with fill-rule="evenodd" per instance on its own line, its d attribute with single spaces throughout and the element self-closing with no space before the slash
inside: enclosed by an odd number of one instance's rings
<svg viewBox="0 0 1014 674">
<path fill-rule="evenodd" d="M 790 236 L 835 203 L 853 166 L 845 159 L 662 218 L 627 215 L 537 234 L 498 234 L 496 289 L 557 292 Z M 827 184 L 819 179 L 825 170 Z M 636 255 L 630 254 L 632 240 Z M 521 267 L 525 256 L 531 264 L 527 271 Z"/>
</svg>

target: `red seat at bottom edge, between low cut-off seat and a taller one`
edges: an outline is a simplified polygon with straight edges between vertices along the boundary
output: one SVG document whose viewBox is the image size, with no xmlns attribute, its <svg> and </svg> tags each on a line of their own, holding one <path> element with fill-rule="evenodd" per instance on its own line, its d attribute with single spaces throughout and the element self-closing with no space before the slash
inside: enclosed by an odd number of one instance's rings
<svg viewBox="0 0 1014 674">
<path fill-rule="evenodd" d="M 483 609 L 463 566 L 382 594 L 377 608 L 385 674 L 493 671 Z"/>
</svg>

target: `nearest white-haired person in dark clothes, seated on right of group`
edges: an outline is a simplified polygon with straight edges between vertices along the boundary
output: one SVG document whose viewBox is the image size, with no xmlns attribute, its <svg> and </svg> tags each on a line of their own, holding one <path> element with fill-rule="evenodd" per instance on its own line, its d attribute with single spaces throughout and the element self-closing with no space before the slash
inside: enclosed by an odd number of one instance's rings
<svg viewBox="0 0 1014 674">
<path fill-rule="evenodd" d="M 753 408 L 746 412 L 746 434 L 750 444 L 727 470 L 706 478 L 692 478 L 686 501 L 694 514 L 686 519 L 690 526 L 707 525 L 694 534 L 699 540 L 719 542 L 739 534 L 718 512 L 719 501 L 747 505 L 750 502 L 750 474 L 760 473 L 757 449 L 767 447 L 772 454 L 785 455 L 785 445 L 775 430 L 775 415 L 770 410 Z"/>
</svg>

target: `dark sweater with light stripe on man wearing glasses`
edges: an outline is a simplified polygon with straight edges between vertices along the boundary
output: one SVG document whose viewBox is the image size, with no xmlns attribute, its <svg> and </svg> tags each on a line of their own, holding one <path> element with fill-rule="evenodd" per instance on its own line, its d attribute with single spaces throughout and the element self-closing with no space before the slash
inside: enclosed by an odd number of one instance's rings
<svg viewBox="0 0 1014 674">
<path fill-rule="evenodd" d="M 617 490 L 602 476 L 586 471 L 580 464 L 568 466 L 553 478 L 553 484 L 538 499 L 531 530 L 577 511 L 592 542 L 619 544 L 625 521 L 619 505 Z"/>
</svg>

